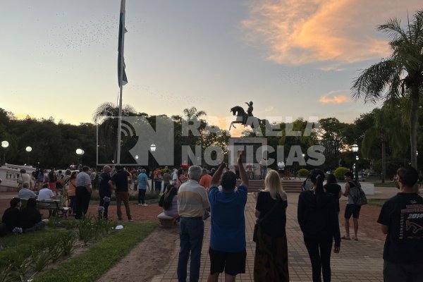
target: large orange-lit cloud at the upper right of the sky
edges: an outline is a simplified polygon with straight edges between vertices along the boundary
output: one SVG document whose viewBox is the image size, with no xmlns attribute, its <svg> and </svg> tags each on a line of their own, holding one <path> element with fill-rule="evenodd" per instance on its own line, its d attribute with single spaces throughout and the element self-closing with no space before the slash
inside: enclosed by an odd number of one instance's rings
<svg viewBox="0 0 423 282">
<path fill-rule="evenodd" d="M 385 35 L 375 27 L 389 18 L 407 16 L 404 7 L 412 15 L 420 1 L 252 1 L 243 27 L 247 39 L 264 44 L 267 58 L 276 63 L 353 63 L 389 54 Z"/>
</svg>

